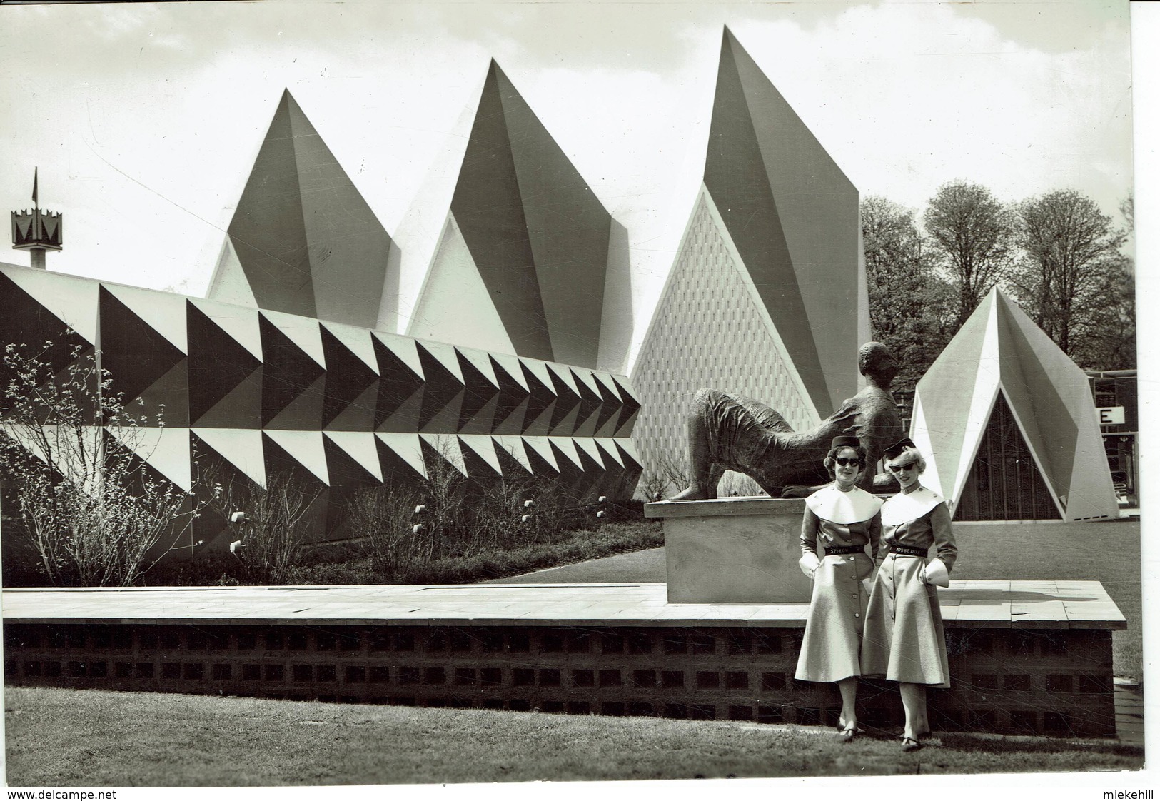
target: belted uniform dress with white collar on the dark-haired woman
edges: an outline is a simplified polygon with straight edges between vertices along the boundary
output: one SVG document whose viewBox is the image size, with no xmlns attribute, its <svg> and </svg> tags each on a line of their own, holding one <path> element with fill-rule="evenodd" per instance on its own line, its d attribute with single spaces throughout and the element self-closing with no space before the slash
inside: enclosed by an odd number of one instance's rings
<svg viewBox="0 0 1160 801">
<path fill-rule="evenodd" d="M 882 532 L 880 506 L 882 500 L 856 486 L 842 492 L 829 485 L 805 499 L 802 553 L 817 554 L 819 564 L 795 673 L 799 680 L 839 681 L 862 672 L 858 654 Z"/>
</svg>

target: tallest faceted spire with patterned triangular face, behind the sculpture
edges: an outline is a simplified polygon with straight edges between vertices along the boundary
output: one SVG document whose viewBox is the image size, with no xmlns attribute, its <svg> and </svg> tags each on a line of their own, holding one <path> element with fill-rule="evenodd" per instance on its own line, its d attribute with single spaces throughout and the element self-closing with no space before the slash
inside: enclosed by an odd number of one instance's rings
<svg viewBox="0 0 1160 801">
<path fill-rule="evenodd" d="M 726 28 L 704 179 L 632 369 L 644 464 L 683 459 L 702 387 L 817 425 L 869 338 L 858 192 Z"/>
</svg>

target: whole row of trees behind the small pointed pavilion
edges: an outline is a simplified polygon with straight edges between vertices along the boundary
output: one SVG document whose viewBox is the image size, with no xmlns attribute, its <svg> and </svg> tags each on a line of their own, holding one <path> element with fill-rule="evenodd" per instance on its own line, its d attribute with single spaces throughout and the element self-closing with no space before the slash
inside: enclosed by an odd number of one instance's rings
<svg viewBox="0 0 1160 801">
<path fill-rule="evenodd" d="M 914 215 L 882 197 L 862 203 L 870 325 L 902 362 L 907 390 L 994 286 L 1009 293 L 1078 365 L 1136 367 L 1136 294 L 1126 233 L 1073 189 L 1005 207 L 958 180 Z M 1129 226 L 1132 199 L 1119 205 Z"/>
</svg>

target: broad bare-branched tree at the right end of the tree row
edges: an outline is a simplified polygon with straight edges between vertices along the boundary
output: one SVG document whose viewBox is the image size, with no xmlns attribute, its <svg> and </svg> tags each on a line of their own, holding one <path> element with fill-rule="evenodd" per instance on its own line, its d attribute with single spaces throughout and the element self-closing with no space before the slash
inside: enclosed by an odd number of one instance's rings
<svg viewBox="0 0 1160 801">
<path fill-rule="evenodd" d="M 1092 360 L 1125 355 L 1133 311 L 1126 309 L 1125 317 L 1125 304 L 1134 305 L 1131 261 L 1121 252 L 1126 238 L 1095 201 L 1074 189 L 1018 205 L 1025 258 L 1012 284 L 1036 324 L 1085 367 L 1109 368 Z"/>
</svg>

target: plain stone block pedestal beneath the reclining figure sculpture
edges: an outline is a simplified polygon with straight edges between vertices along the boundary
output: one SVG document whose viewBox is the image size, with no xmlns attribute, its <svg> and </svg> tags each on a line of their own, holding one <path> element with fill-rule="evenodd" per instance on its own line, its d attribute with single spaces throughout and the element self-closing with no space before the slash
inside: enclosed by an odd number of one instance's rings
<svg viewBox="0 0 1160 801">
<path fill-rule="evenodd" d="M 807 604 L 798 569 L 804 500 L 662 500 L 645 517 L 665 520 L 670 604 Z"/>
</svg>

